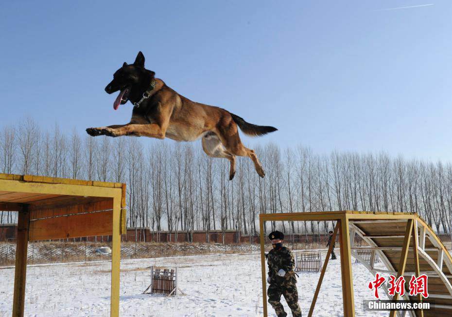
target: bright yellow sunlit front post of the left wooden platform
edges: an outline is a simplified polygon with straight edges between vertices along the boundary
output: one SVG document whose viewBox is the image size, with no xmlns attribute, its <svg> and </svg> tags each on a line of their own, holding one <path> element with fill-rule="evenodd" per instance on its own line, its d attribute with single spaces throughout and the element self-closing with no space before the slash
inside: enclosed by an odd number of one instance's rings
<svg viewBox="0 0 452 317">
<path fill-rule="evenodd" d="M 113 234 L 111 251 L 110 316 L 119 316 L 119 278 L 121 261 L 121 195 L 113 198 Z"/>
</svg>

